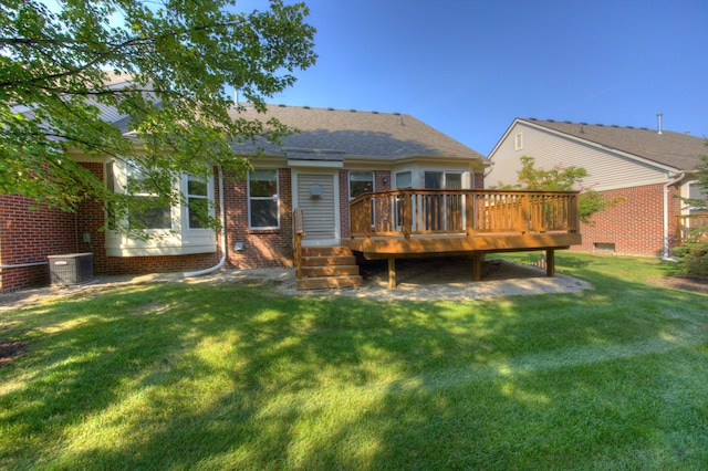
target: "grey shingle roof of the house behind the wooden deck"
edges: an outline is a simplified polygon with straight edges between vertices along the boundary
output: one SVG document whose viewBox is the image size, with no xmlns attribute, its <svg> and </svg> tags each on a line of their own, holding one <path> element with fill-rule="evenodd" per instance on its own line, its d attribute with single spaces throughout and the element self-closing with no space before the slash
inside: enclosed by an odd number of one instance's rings
<svg viewBox="0 0 708 471">
<path fill-rule="evenodd" d="M 261 121 L 275 117 L 300 130 L 284 138 L 282 148 L 263 146 L 267 153 L 320 149 L 382 158 L 439 156 L 487 160 L 481 154 L 407 114 L 269 105 L 267 114 L 247 107 L 240 116 Z M 253 147 L 235 145 L 233 148 L 246 154 Z"/>
</svg>

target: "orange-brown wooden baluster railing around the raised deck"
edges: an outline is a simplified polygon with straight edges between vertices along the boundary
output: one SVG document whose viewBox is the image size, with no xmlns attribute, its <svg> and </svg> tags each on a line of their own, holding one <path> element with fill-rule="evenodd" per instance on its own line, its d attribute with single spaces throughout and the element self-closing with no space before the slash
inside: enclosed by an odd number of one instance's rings
<svg viewBox="0 0 708 471">
<path fill-rule="evenodd" d="M 351 236 L 577 232 L 575 191 L 424 190 L 365 193 L 350 203 Z"/>
</svg>

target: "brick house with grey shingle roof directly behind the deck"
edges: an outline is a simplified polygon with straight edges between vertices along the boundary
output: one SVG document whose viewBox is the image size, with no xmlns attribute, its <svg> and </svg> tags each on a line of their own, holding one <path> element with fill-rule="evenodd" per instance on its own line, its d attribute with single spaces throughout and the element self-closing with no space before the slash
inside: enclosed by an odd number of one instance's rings
<svg viewBox="0 0 708 471">
<path fill-rule="evenodd" d="M 104 116 L 124 127 L 125 116 Z M 33 201 L 0 196 L 0 291 L 49 283 L 48 255 L 93 253 L 94 273 L 137 274 L 198 271 L 223 260 L 228 268 L 293 263 L 293 209 L 304 210 L 304 245 L 339 244 L 350 234 L 350 200 L 395 188 L 483 188 L 488 159 L 410 115 L 270 105 L 267 115 L 246 105 L 246 118 L 277 117 L 300 132 L 282 146 L 233 150 L 251 159 L 248 178 L 176 182 L 189 201 L 211 200 L 223 211 L 225 236 L 200 227 L 188 206 L 135 214 L 156 236 L 148 241 L 100 230 L 106 214 L 84 202 L 75 214 L 32 209 Z M 125 130 L 125 129 L 124 129 Z M 119 161 L 82 161 L 115 191 L 125 190 Z M 133 175 L 135 177 L 135 175 Z M 149 195 L 143 197 L 149 198 Z"/>
</svg>

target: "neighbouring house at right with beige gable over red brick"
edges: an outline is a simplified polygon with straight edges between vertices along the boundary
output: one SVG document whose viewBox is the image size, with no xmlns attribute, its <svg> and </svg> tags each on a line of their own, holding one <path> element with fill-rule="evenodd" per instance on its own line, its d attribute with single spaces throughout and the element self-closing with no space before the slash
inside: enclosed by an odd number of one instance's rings
<svg viewBox="0 0 708 471">
<path fill-rule="evenodd" d="M 633 255 L 670 254 L 676 216 L 690 211 L 677 196 L 698 197 L 691 172 L 708 154 L 705 139 L 660 129 L 514 119 L 489 155 L 487 186 L 513 185 L 520 157 L 535 167 L 583 167 L 585 188 L 625 200 L 583 224 L 573 250 Z"/>
</svg>

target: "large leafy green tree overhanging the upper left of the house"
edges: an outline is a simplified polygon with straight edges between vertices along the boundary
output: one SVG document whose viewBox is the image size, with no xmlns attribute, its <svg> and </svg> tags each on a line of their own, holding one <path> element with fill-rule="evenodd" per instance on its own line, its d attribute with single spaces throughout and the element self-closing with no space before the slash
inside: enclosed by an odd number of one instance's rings
<svg viewBox="0 0 708 471">
<path fill-rule="evenodd" d="M 228 91 L 262 112 L 295 70 L 314 64 L 303 3 L 271 0 L 251 13 L 237 12 L 235 0 L 56 3 L 0 0 L 0 195 L 66 211 L 93 199 L 118 221 L 144 200 L 107 190 L 67 151 L 122 160 L 139 169 L 140 191 L 176 203 L 184 197 L 175 179 L 206 176 L 205 163 L 244 175 L 249 161 L 232 142 L 292 132 L 233 118 Z M 112 75 L 131 85 L 111 86 Z M 101 118 L 102 106 L 129 116 L 132 138 Z"/>
</svg>

